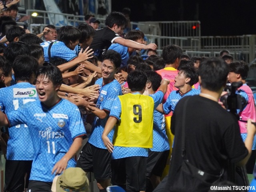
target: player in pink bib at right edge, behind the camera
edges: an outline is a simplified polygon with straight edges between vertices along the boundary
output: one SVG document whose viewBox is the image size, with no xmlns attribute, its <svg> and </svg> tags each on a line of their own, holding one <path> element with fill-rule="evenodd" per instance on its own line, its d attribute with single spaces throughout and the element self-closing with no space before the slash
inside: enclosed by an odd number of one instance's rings
<svg viewBox="0 0 256 192">
<path fill-rule="evenodd" d="M 245 79 L 248 76 L 249 67 L 244 61 L 233 61 L 229 65 L 228 80 L 230 83 L 243 82 L 243 85 L 236 91 L 246 100 L 246 106 L 242 110 L 238 110 L 238 116 L 242 117 L 242 120 L 251 119 L 256 121 L 256 112 L 254 97 L 251 88 L 246 84 Z M 240 133 L 243 141 L 245 141 L 247 136 L 246 122 L 238 121 L 240 127 Z M 252 144 L 252 155 L 246 164 L 246 170 L 248 174 L 253 173 L 254 165 L 256 160 L 256 137 Z"/>
</svg>

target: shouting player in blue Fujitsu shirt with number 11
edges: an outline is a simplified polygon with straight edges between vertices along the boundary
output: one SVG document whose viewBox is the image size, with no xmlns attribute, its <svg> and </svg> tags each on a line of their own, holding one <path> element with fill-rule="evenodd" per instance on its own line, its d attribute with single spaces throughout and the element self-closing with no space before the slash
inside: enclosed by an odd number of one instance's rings
<svg viewBox="0 0 256 192">
<path fill-rule="evenodd" d="M 82 146 L 82 136 L 86 134 L 78 108 L 57 95 L 61 82 L 62 74 L 57 67 L 42 66 L 36 73 L 39 100 L 6 115 L 0 112 L 1 124 L 9 127 L 26 124 L 29 128 L 30 145 L 34 146 L 28 184 L 31 192 L 50 191 L 54 174 L 76 166 L 72 157 Z"/>
</svg>

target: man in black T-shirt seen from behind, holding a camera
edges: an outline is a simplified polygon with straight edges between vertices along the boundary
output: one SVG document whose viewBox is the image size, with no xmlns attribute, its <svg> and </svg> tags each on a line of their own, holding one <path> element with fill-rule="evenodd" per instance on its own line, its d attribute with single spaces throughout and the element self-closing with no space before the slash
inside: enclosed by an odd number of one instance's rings
<svg viewBox="0 0 256 192">
<path fill-rule="evenodd" d="M 255 126 L 248 120 L 243 142 L 235 116 L 218 104 L 228 72 L 228 65 L 220 58 L 208 58 L 200 64 L 201 93 L 184 97 L 176 105 L 171 120 L 175 140 L 169 175 L 154 192 L 205 192 L 222 178 L 228 162 L 243 166 L 248 161 Z"/>
</svg>

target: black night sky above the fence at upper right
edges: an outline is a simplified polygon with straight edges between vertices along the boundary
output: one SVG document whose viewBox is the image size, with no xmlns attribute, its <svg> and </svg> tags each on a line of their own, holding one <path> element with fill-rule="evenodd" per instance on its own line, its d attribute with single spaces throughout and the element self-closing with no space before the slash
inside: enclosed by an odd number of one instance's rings
<svg viewBox="0 0 256 192">
<path fill-rule="evenodd" d="M 256 34 L 256 0 L 112 0 L 131 21 L 199 20 L 201 36 Z"/>
</svg>

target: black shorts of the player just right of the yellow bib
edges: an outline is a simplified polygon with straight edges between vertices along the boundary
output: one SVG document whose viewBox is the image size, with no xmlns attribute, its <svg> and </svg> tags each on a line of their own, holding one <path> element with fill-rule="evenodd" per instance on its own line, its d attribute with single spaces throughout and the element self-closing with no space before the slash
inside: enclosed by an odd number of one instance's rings
<svg viewBox="0 0 256 192">
<path fill-rule="evenodd" d="M 148 150 L 147 177 L 150 177 L 152 174 L 159 177 L 162 176 L 169 152 L 170 150 L 162 152 Z"/>
</svg>

